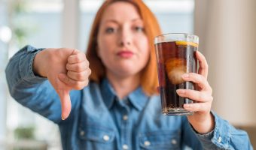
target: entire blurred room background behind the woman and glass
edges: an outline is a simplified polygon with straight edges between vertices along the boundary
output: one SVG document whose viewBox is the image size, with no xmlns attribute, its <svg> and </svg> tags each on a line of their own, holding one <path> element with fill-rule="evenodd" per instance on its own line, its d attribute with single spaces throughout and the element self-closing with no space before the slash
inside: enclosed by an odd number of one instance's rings
<svg viewBox="0 0 256 150">
<path fill-rule="evenodd" d="M 85 52 L 103 0 L 0 0 L 0 150 L 62 149 L 56 124 L 17 104 L 8 94 L 5 66 L 26 44 Z M 256 146 L 256 1 L 144 0 L 164 33 L 200 37 L 209 63 L 214 110 L 248 131 Z"/>
</svg>

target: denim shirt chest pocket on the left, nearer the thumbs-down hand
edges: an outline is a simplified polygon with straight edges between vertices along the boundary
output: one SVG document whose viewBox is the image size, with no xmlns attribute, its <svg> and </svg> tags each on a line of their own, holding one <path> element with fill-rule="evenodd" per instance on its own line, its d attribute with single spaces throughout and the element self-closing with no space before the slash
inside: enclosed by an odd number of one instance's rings
<svg viewBox="0 0 256 150">
<path fill-rule="evenodd" d="M 99 126 L 84 126 L 79 129 L 80 149 L 113 149 L 114 130 Z"/>
</svg>

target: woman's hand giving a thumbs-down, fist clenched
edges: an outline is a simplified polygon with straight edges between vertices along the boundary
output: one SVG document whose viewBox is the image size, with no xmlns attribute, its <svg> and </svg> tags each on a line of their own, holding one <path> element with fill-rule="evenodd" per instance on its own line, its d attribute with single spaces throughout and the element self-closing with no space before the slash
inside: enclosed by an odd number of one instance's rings
<svg viewBox="0 0 256 150">
<path fill-rule="evenodd" d="M 35 55 L 33 71 L 41 77 L 47 77 L 62 106 L 62 120 L 68 118 L 71 111 L 69 92 L 80 90 L 89 83 L 89 62 L 77 49 L 44 49 Z"/>
</svg>

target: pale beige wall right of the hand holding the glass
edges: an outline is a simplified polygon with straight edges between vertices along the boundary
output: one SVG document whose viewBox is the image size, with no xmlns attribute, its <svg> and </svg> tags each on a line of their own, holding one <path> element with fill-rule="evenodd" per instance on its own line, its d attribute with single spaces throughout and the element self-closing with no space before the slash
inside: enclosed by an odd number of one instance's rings
<svg viewBox="0 0 256 150">
<path fill-rule="evenodd" d="M 196 0 L 195 33 L 209 62 L 212 109 L 236 125 L 256 125 L 256 1 Z"/>
</svg>

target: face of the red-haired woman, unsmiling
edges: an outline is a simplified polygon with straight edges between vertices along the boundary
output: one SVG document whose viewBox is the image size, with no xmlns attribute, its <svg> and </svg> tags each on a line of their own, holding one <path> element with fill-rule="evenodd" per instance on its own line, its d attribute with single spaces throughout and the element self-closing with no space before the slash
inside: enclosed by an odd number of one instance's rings
<svg viewBox="0 0 256 150">
<path fill-rule="evenodd" d="M 107 76 L 136 76 L 148 63 L 150 51 L 144 24 L 136 7 L 128 2 L 114 2 L 106 8 L 97 43 Z"/>
</svg>

